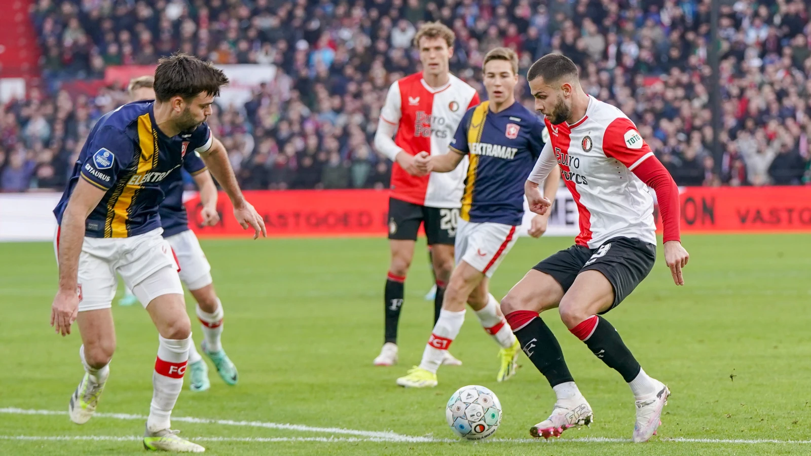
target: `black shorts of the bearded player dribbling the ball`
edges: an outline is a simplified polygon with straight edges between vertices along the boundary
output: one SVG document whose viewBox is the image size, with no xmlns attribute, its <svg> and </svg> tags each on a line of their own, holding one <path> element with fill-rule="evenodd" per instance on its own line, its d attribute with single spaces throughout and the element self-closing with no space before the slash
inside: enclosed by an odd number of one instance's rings
<svg viewBox="0 0 811 456">
<path fill-rule="evenodd" d="M 614 288 L 614 303 L 600 314 L 620 305 L 634 288 L 647 277 L 656 262 L 656 246 L 633 238 L 608 239 L 599 248 L 573 245 L 535 265 L 535 270 L 552 276 L 564 293 L 572 286 L 577 274 L 599 271 Z"/>
</svg>

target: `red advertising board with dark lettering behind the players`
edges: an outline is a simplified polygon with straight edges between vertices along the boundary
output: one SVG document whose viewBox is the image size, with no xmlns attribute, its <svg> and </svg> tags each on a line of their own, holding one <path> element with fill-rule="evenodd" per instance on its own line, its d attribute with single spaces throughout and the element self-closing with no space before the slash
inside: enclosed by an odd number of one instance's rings
<svg viewBox="0 0 811 456">
<path fill-rule="evenodd" d="M 264 217 L 268 236 L 384 236 L 388 233 L 386 190 L 246 191 L 245 196 Z M 560 204 L 560 195 L 558 201 Z M 680 203 L 683 233 L 811 231 L 811 186 L 684 187 Z M 187 200 L 186 207 L 190 226 L 201 237 L 247 235 L 234 219 L 225 194 L 221 193 L 217 204 L 221 213 L 217 226 L 200 226 L 198 196 Z M 654 215 L 661 230 L 659 213 Z M 569 216 L 577 217 L 577 211 Z M 566 222 L 576 232 L 577 220 Z"/>
</svg>

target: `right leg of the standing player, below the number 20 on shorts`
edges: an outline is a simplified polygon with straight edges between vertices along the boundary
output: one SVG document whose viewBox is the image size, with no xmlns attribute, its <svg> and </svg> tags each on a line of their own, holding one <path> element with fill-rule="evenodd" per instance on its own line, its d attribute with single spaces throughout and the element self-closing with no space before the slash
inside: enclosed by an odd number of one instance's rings
<svg viewBox="0 0 811 456">
<path fill-rule="evenodd" d="M 434 325 L 440 319 L 445 289 L 453 272 L 454 244 L 456 243 L 459 209 L 437 209 L 423 206 L 425 234 L 431 246 L 431 263 L 434 268 L 436 295 L 434 296 Z M 442 364 L 461 366 L 449 351 L 445 351 Z"/>
</svg>

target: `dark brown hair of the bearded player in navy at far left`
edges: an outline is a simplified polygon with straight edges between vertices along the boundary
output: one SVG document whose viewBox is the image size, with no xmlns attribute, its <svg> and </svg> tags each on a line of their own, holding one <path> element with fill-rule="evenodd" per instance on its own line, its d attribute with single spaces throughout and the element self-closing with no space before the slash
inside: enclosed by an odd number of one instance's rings
<svg viewBox="0 0 811 456">
<path fill-rule="evenodd" d="M 217 97 L 225 84 L 228 84 L 228 76 L 221 69 L 189 54 L 161 58 L 155 68 L 157 101 L 169 101 L 172 97 L 191 100 L 203 92 Z"/>
</svg>

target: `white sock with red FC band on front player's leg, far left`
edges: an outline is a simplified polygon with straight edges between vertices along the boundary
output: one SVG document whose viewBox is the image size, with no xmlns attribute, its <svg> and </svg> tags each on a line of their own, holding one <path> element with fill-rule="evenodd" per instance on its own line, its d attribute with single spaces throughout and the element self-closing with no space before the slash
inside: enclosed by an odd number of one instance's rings
<svg viewBox="0 0 811 456">
<path fill-rule="evenodd" d="M 191 334 L 185 339 L 166 339 L 158 336 L 155 371 L 152 372 L 152 404 L 149 406 L 147 428 L 149 432 L 168 429 L 171 426 L 174 402 L 183 389 L 183 374 L 186 373 L 189 348 L 194 344 Z"/>
</svg>

